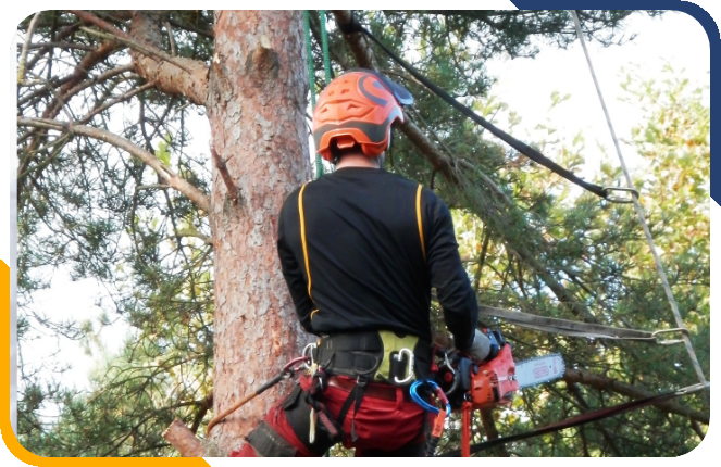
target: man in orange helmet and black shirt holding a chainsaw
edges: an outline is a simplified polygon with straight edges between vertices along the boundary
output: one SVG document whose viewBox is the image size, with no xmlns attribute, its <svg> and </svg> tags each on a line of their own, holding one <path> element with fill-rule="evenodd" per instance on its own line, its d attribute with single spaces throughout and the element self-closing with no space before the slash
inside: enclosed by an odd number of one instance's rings
<svg viewBox="0 0 721 467">
<path fill-rule="evenodd" d="M 248 436 L 240 456 L 422 456 L 425 413 L 408 387 L 432 378 L 431 288 L 456 346 L 489 351 L 450 213 L 418 184 L 382 169 L 391 126 L 412 97 L 369 70 L 334 79 L 313 113 L 316 151 L 337 171 L 291 193 L 278 254 L 303 328 L 320 336 L 312 375 Z"/>
</svg>

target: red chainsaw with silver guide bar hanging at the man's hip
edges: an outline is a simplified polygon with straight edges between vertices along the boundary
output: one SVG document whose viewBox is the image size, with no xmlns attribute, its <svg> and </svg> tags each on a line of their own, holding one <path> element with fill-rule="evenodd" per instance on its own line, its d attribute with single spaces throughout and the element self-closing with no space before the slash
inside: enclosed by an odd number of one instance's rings
<svg viewBox="0 0 721 467">
<path fill-rule="evenodd" d="M 470 456 L 471 414 L 475 409 L 508 407 L 517 391 L 552 381 L 563 376 L 565 365 L 560 354 L 549 354 L 513 362 L 511 344 L 498 330 L 484 329 L 490 340 L 490 353 L 483 362 L 473 362 L 455 351 L 440 352 L 436 381 L 452 409 L 462 412 L 461 454 Z M 438 355 L 438 354 L 437 354 Z"/>
</svg>

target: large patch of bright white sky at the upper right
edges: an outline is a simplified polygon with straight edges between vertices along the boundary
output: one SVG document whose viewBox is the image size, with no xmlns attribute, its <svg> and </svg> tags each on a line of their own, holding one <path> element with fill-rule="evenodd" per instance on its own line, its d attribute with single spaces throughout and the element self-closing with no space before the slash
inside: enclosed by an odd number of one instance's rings
<svg viewBox="0 0 721 467">
<path fill-rule="evenodd" d="M 620 84 L 627 74 L 622 68 L 631 71 L 633 65 L 638 65 L 641 76 L 649 79 L 658 77 L 662 67 L 669 64 L 676 72 L 685 71 L 692 84 L 708 85 L 710 78 L 707 74 L 710 50 L 706 31 L 687 14 L 669 12 L 661 18 L 636 16 L 626 28 L 626 36 L 631 33 L 638 36 L 620 47 L 604 48 L 598 42 L 586 42 L 620 140 L 630 139 L 631 128 L 642 123 L 641 110 L 619 100 L 623 92 Z M 584 153 L 587 172 L 583 176 L 593 175 L 599 166 L 601 151 L 594 141 L 605 147 L 611 161 L 618 164 L 613 140 L 577 40 L 568 50 L 547 48 L 536 59 L 496 60 L 488 63 L 487 68 L 498 78 L 492 93 L 521 115 L 520 129 L 531 137 L 526 141 L 543 137 L 543 132 L 533 130 L 538 124 L 550 124 L 565 139 L 582 131 L 587 149 Z M 549 111 L 554 91 L 560 96 L 571 94 L 571 98 Z M 523 134 L 514 136 L 524 137 Z M 633 168 L 638 160 L 634 159 L 632 148 L 621 144 L 621 151 Z M 552 153 L 546 155 L 554 157 Z"/>
</svg>

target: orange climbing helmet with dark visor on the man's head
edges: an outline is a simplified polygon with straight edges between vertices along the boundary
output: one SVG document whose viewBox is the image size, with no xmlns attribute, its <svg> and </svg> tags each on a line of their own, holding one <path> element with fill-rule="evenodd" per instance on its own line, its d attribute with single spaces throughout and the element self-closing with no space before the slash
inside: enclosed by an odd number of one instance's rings
<svg viewBox="0 0 721 467">
<path fill-rule="evenodd" d="M 353 68 L 331 81 L 313 112 L 315 151 L 333 162 L 331 148 L 360 146 L 376 157 L 390 144 L 390 126 L 403 122 L 401 105 L 413 103 L 408 89 L 365 68 Z"/>
</svg>

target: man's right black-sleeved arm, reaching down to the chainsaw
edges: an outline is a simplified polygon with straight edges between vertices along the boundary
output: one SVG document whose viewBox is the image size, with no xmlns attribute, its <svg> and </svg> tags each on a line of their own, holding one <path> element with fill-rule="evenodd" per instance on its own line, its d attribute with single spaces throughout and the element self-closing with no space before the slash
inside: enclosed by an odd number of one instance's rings
<svg viewBox="0 0 721 467">
<path fill-rule="evenodd" d="M 446 326 L 453 335 L 456 346 L 459 350 L 468 350 L 473 344 L 478 323 L 478 304 L 458 253 L 450 211 L 443 201 L 430 194 L 431 286 L 436 288 Z"/>
</svg>

